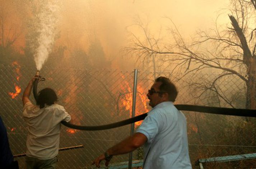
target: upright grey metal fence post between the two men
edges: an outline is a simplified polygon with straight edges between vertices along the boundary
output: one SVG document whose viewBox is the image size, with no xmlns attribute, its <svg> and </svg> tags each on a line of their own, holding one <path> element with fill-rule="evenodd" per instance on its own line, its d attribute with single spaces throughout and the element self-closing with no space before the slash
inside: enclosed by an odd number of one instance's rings
<svg viewBox="0 0 256 169">
<path fill-rule="evenodd" d="M 132 113 L 131 113 L 131 117 L 135 116 L 136 92 L 137 92 L 137 75 L 138 75 L 138 70 L 134 69 L 134 83 L 133 83 L 133 94 L 132 94 Z M 134 123 L 131 124 L 131 135 L 133 135 L 133 132 L 134 132 Z M 131 169 L 131 166 L 132 166 L 132 152 L 129 153 L 128 169 Z"/>
</svg>

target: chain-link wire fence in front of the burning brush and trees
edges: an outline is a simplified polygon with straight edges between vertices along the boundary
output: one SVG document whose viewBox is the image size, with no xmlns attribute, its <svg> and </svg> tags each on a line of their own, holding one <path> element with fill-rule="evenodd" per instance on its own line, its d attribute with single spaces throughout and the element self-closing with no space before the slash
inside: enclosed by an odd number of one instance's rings
<svg viewBox="0 0 256 169">
<path fill-rule="evenodd" d="M 1 117 L 14 155 L 25 153 L 27 129 L 22 119 L 22 93 L 35 72 L 34 68 L 20 67 L 18 64 L 0 66 Z M 46 81 L 38 83 L 38 91 L 45 87 L 55 89 L 58 103 L 65 107 L 77 125 L 98 126 L 131 117 L 134 71 L 43 68 L 41 76 Z M 166 76 L 176 84 L 179 94 L 175 104 L 246 106 L 246 83 L 235 75 L 218 78 L 218 74 L 154 74 L 139 71 L 136 116 L 150 110 L 146 94 L 157 76 Z M 34 102 L 32 95 L 31 100 Z M 193 168 L 199 168 L 194 165 L 197 159 L 256 152 L 254 118 L 183 113 L 187 118 Z M 139 124 L 135 123 L 135 128 Z M 130 125 L 103 131 L 79 131 L 65 126 L 61 130 L 60 148 L 78 145 L 83 145 L 83 148 L 60 151 L 57 168 L 91 168 L 94 158 L 130 135 Z M 133 153 L 133 159 L 143 159 L 141 148 Z M 16 160 L 20 168 L 25 168 L 24 156 Z M 115 156 L 111 163 L 124 161 L 128 161 L 128 154 Z M 256 160 L 204 164 L 204 168 L 236 167 L 256 167 Z"/>
</svg>

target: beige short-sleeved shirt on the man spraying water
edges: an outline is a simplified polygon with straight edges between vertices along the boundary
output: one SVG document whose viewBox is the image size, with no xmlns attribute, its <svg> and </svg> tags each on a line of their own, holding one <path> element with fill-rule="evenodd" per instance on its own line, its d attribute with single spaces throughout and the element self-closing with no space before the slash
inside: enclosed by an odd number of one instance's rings
<svg viewBox="0 0 256 169">
<path fill-rule="evenodd" d="M 59 152 L 61 121 L 69 122 L 71 116 L 59 104 L 39 106 L 27 102 L 23 118 L 28 125 L 27 156 L 47 160 Z"/>
</svg>

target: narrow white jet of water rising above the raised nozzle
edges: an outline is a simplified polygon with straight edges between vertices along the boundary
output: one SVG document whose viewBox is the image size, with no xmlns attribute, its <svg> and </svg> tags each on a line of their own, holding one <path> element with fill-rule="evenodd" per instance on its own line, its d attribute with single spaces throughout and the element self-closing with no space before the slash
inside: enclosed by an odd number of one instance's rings
<svg viewBox="0 0 256 169">
<path fill-rule="evenodd" d="M 38 25 L 36 25 L 36 32 L 38 37 L 36 39 L 37 46 L 34 53 L 34 61 L 36 62 L 37 70 L 41 70 L 43 64 L 46 62 L 56 36 L 56 23 L 58 20 L 57 14 L 59 11 L 59 2 L 57 0 L 41 0 L 39 1 L 39 10 L 36 13 Z"/>
</svg>

